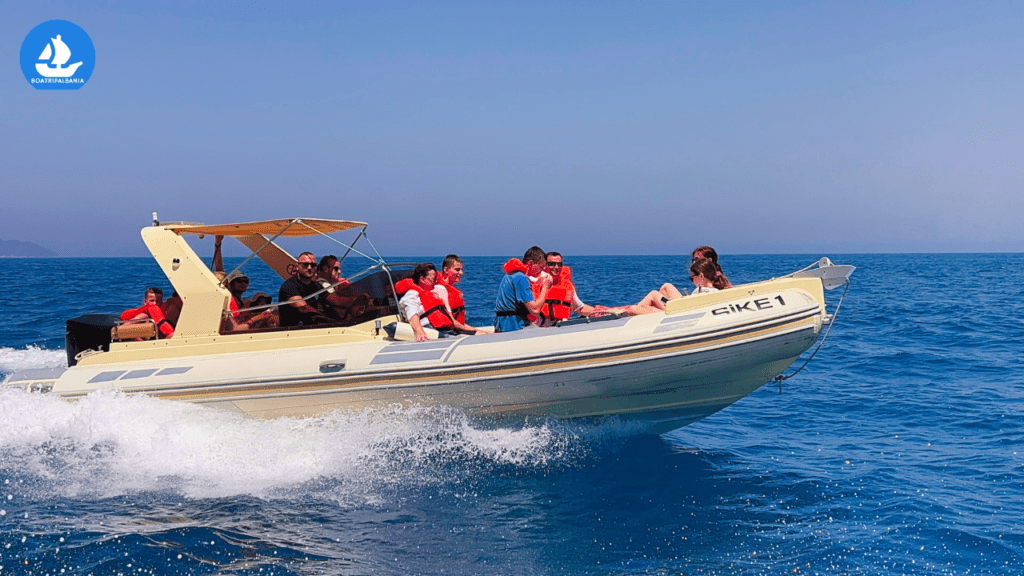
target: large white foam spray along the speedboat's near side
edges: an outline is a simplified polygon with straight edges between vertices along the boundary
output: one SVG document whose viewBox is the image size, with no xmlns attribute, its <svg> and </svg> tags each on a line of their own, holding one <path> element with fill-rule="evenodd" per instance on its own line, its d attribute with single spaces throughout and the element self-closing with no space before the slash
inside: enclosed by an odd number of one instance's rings
<svg viewBox="0 0 1024 576">
<path fill-rule="evenodd" d="M 156 490 L 367 502 L 391 487 L 574 465 L 588 451 L 579 431 L 557 423 L 494 427 L 444 408 L 258 420 L 113 390 L 71 403 L 0 389 L 3 471 L 36 497 Z"/>
</svg>

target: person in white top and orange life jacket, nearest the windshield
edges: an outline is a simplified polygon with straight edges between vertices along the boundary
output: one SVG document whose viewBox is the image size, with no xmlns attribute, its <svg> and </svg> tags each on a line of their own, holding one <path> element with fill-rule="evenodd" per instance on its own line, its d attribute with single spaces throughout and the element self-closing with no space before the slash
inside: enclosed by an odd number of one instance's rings
<svg viewBox="0 0 1024 576">
<path fill-rule="evenodd" d="M 398 300 L 402 316 L 409 320 L 416 334 L 416 341 L 427 339 L 423 328 L 441 332 L 476 333 L 476 328 L 459 322 L 449 311 L 444 292 L 437 290 L 437 269 L 432 263 L 417 264 L 413 276 L 395 284 L 395 292 L 403 294 Z"/>
</svg>

